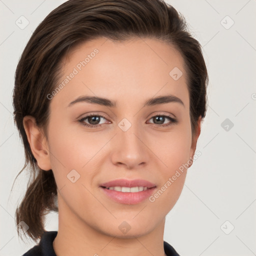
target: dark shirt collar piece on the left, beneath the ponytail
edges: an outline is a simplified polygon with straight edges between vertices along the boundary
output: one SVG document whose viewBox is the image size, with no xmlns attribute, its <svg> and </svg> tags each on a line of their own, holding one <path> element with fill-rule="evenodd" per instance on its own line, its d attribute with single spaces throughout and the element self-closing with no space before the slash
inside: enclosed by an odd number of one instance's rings
<svg viewBox="0 0 256 256">
<path fill-rule="evenodd" d="M 57 231 L 45 231 L 40 242 L 26 251 L 22 256 L 56 256 L 52 242 L 57 235 Z"/>
</svg>

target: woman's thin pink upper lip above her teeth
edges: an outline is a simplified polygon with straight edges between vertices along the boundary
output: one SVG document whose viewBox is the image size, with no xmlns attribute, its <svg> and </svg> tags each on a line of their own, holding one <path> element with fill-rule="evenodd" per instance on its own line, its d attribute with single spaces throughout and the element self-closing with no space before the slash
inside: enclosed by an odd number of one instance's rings
<svg viewBox="0 0 256 256">
<path fill-rule="evenodd" d="M 115 179 L 105 183 L 100 184 L 100 186 L 110 187 L 110 186 L 125 186 L 125 187 L 135 187 L 135 186 L 146 186 L 147 188 L 151 188 L 156 186 L 155 184 L 144 180 L 144 179 Z"/>
</svg>

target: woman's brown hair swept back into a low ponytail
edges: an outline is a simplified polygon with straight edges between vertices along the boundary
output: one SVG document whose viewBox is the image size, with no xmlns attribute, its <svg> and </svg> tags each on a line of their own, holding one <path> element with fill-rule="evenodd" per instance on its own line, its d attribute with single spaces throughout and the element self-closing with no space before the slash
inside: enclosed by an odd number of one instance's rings
<svg viewBox="0 0 256 256">
<path fill-rule="evenodd" d="M 199 42 L 185 19 L 163 0 L 68 0 L 52 10 L 34 30 L 19 59 L 13 90 L 14 122 L 25 151 L 25 167 L 33 174 L 15 211 L 15 221 L 24 221 L 34 241 L 41 237 L 45 215 L 58 211 L 57 187 L 52 170 L 36 163 L 23 127 L 23 117 L 32 115 L 46 134 L 50 100 L 46 97 L 57 84 L 60 59 L 81 42 L 105 36 L 123 41 L 133 36 L 164 40 L 181 53 L 187 73 L 192 135 L 197 120 L 206 113 L 207 70 Z M 17 177 L 16 176 L 16 177 Z M 16 179 L 16 178 L 15 178 Z M 15 181 L 15 180 L 14 180 Z M 20 225 L 21 229 L 25 229 Z M 22 235 L 17 230 L 18 236 Z"/>
</svg>

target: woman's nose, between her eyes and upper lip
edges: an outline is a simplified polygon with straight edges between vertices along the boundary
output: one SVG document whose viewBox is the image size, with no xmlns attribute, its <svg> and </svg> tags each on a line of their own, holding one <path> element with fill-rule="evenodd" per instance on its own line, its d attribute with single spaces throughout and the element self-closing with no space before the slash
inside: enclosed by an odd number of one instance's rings
<svg viewBox="0 0 256 256">
<path fill-rule="evenodd" d="M 111 161 L 114 165 L 133 169 L 148 163 L 150 145 L 146 141 L 146 134 L 142 127 L 131 125 L 126 131 L 117 127 L 117 133 L 112 142 Z"/>
</svg>

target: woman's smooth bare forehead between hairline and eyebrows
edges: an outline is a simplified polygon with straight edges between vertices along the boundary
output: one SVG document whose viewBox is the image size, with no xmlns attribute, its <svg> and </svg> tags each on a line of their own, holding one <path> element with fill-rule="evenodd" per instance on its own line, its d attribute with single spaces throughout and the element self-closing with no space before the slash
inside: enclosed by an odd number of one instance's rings
<svg viewBox="0 0 256 256">
<path fill-rule="evenodd" d="M 127 102 L 157 93 L 172 93 L 183 102 L 188 97 L 183 58 L 161 40 L 134 37 L 120 42 L 100 37 L 80 43 L 61 63 L 56 86 L 63 86 L 52 100 L 61 104 L 80 95 L 107 95 L 117 101 L 123 97 Z"/>
</svg>

